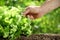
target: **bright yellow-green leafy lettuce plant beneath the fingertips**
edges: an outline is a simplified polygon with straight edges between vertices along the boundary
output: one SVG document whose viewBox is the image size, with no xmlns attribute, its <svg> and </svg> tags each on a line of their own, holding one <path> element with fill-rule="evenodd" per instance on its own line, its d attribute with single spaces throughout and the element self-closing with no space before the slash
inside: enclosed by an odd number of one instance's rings
<svg viewBox="0 0 60 40">
<path fill-rule="evenodd" d="M 4 38 L 14 40 L 20 34 L 30 35 L 31 21 L 20 14 L 20 9 L 12 7 L 9 9 L 6 6 L 0 7 L 0 35 Z"/>
</svg>

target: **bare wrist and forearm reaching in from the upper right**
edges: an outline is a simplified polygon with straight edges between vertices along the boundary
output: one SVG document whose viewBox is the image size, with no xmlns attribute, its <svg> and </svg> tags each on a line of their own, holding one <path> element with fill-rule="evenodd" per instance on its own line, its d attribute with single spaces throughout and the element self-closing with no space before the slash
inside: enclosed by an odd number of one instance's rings
<svg viewBox="0 0 60 40">
<path fill-rule="evenodd" d="M 54 10 L 55 8 L 60 7 L 60 0 L 51 0 L 46 2 L 40 7 L 40 12 L 42 14 L 46 14 L 51 10 Z"/>
</svg>

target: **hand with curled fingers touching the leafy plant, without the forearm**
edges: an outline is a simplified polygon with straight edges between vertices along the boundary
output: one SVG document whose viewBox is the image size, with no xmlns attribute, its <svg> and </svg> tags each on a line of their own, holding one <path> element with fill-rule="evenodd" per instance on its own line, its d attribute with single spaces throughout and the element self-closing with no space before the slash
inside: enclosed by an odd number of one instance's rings
<svg viewBox="0 0 60 40">
<path fill-rule="evenodd" d="M 39 18 L 42 14 L 40 12 L 39 6 L 30 6 L 26 8 L 24 15 L 31 19 L 36 19 Z"/>
</svg>

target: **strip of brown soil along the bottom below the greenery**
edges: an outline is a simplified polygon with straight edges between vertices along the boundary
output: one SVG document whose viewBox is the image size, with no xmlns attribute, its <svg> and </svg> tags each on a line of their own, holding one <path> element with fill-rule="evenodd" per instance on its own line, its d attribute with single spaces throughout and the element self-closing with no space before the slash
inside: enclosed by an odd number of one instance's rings
<svg viewBox="0 0 60 40">
<path fill-rule="evenodd" d="M 60 40 L 60 34 L 33 34 L 29 37 L 21 36 L 17 40 Z"/>
</svg>

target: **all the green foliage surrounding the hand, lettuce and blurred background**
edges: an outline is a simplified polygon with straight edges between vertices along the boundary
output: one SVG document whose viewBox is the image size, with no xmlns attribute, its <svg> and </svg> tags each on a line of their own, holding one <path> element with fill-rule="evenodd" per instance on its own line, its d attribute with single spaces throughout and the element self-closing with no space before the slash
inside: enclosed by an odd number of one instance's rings
<svg viewBox="0 0 60 40">
<path fill-rule="evenodd" d="M 0 0 L 0 36 L 14 40 L 21 34 L 60 33 L 60 8 L 30 20 L 22 15 L 27 6 L 41 6 L 45 0 Z"/>
</svg>

